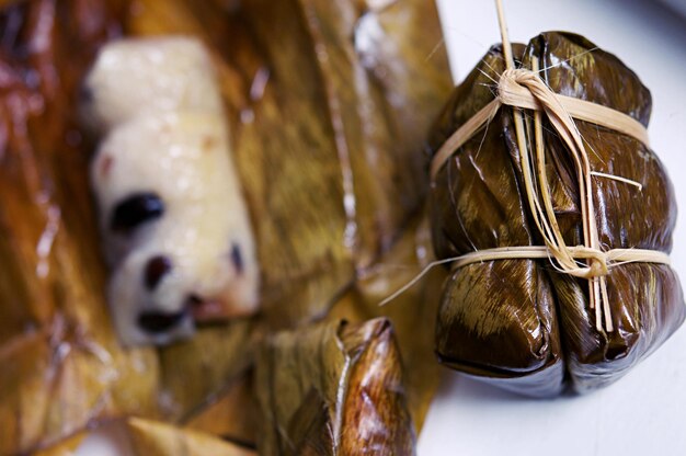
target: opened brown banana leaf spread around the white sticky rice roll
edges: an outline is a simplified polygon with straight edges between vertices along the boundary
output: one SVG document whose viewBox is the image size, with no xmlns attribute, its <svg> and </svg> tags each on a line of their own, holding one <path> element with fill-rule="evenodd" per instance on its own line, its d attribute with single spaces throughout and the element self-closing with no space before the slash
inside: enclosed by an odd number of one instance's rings
<svg viewBox="0 0 686 456">
<path fill-rule="evenodd" d="M 192 34 L 213 53 L 272 326 L 323 315 L 426 193 L 416 151 L 450 87 L 432 2 L 24 0 L 0 24 L 0 455 L 106 417 L 197 417 L 262 334 L 243 319 L 119 346 L 77 119 L 107 39 Z"/>
</svg>

